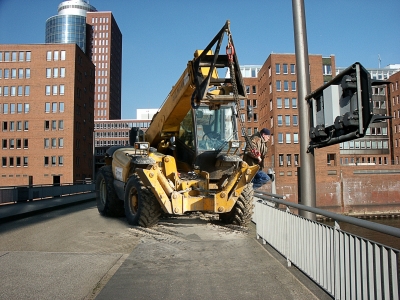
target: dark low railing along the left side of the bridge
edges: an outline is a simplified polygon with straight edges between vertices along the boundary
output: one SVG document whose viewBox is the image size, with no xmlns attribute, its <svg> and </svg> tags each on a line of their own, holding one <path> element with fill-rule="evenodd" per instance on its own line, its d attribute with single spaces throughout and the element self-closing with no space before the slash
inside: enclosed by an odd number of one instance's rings
<svg viewBox="0 0 400 300">
<path fill-rule="evenodd" d="M 0 187 L 0 203 L 41 200 L 90 193 L 94 190 L 95 184 L 92 181 L 85 181 L 78 184 Z"/>
</svg>

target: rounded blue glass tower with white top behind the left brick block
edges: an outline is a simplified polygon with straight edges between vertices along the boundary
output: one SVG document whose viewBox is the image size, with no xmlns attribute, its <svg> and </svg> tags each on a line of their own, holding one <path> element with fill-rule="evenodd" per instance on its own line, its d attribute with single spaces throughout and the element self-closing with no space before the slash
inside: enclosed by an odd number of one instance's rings
<svg viewBox="0 0 400 300">
<path fill-rule="evenodd" d="M 46 43 L 76 43 L 86 53 L 86 12 L 96 8 L 85 0 L 69 0 L 58 5 L 58 15 L 46 21 Z"/>
</svg>

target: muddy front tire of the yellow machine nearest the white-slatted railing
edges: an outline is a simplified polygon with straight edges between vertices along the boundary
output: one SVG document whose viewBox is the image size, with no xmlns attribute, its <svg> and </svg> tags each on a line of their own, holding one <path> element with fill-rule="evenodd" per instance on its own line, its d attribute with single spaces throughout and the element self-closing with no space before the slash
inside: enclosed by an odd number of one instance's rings
<svg viewBox="0 0 400 300">
<path fill-rule="evenodd" d="M 253 215 L 253 195 L 253 184 L 249 183 L 242 191 L 232 210 L 228 213 L 220 214 L 219 219 L 226 224 L 247 227 Z"/>
</svg>

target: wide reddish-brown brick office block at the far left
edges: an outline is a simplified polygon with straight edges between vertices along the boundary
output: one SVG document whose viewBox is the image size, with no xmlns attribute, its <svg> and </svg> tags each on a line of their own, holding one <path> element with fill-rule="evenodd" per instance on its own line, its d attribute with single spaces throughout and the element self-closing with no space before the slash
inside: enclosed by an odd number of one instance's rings
<svg viewBox="0 0 400 300">
<path fill-rule="evenodd" d="M 94 71 L 76 44 L 0 45 L 1 186 L 92 177 Z"/>
</svg>

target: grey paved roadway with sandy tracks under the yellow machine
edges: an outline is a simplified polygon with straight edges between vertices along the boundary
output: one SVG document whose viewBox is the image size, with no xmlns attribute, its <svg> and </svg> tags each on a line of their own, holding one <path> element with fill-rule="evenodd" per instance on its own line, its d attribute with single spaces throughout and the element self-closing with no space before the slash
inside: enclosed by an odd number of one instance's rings
<svg viewBox="0 0 400 300">
<path fill-rule="evenodd" d="M 45 212 L 0 225 L 0 299 L 329 298 L 254 237 L 202 214 L 132 227 L 94 201 Z"/>
</svg>

